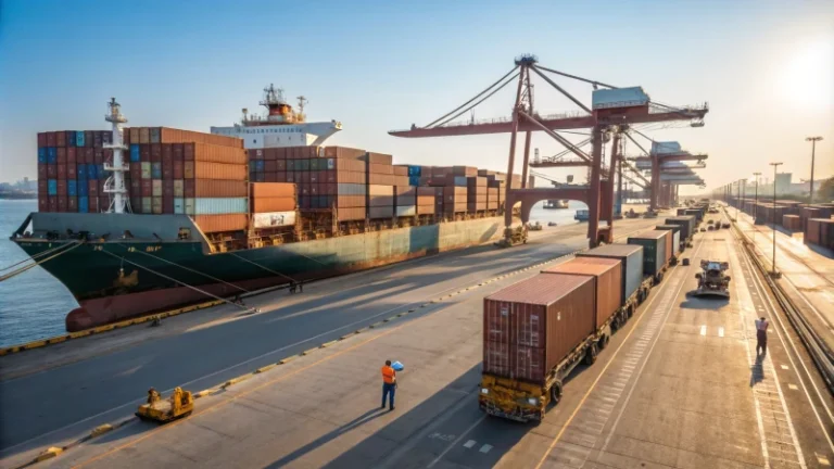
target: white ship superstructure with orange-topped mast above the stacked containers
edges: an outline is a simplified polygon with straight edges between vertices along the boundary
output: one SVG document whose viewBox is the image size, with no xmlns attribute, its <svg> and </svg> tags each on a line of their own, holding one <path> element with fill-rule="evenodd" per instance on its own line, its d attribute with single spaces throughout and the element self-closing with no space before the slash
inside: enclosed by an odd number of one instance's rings
<svg viewBox="0 0 834 469">
<path fill-rule="evenodd" d="M 342 123 L 338 121 L 308 123 L 304 115 L 307 99 L 300 96 L 298 100 L 299 111 L 295 112 L 283 98 L 283 90 L 269 85 L 264 88 L 264 98 L 260 102 L 266 107 L 266 115 L 250 113 L 244 107 L 240 123 L 231 127 L 212 127 L 211 131 L 240 138 L 247 149 L 265 149 L 323 145 L 342 129 Z"/>
</svg>

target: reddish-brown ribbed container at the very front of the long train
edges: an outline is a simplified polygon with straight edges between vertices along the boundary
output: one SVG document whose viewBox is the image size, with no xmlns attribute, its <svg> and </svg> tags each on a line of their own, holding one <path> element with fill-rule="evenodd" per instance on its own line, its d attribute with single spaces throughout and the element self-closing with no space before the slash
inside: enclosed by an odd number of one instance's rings
<svg viewBox="0 0 834 469">
<path fill-rule="evenodd" d="M 540 274 L 483 300 L 483 372 L 543 384 L 596 331 L 594 280 Z"/>
</svg>

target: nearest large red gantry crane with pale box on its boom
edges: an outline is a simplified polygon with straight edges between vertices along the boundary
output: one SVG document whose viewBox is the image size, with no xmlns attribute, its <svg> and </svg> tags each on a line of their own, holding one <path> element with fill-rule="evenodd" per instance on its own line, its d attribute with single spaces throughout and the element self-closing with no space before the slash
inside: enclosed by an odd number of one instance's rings
<svg viewBox="0 0 834 469">
<path fill-rule="evenodd" d="M 587 238 L 590 245 L 596 246 L 601 241 L 610 242 L 614 237 L 614 176 L 618 165 L 610 164 L 607 170 L 607 178 L 604 177 L 603 147 L 608 141 L 611 141 L 611 148 L 615 149 L 611 152 L 614 155 L 612 161 L 616 162 L 617 152 L 620 148 L 621 135 L 626 132 L 630 126 L 634 124 L 688 121 L 691 126 L 702 127 L 704 125 L 704 116 L 709 112 L 709 106 L 707 103 L 683 107 L 662 104 L 652 101 L 641 87 L 618 88 L 614 85 L 548 68 L 539 65 L 538 62 L 538 58 L 532 54 L 518 56 L 515 59 L 515 66 L 509 72 L 470 100 L 455 107 L 453 111 L 422 127 L 413 124 L 407 130 L 391 130 L 389 134 L 394 137 L 403 138 L 510 134 L 507 173 L 513 174 L 518 134 L 523 132 L 525 150 L 522 155 L 521 187 L 514 188 L 511 178 L 508 178 L 505 194 L 506 206 L 513 207 L 520 203 L 521 221 L 522 224 L 527 224 L 530 219 L 530 208 L 532 208 L 539 201 L 547 199 L 572 199 L 582 201 L 589 206 L 590 219 L 587 224 Z M 536 113 L 533 105 L 533 87 L 531 85 L 531 77 L 533 74 L 538 75 L 541 79 L 547 83 L 547 85 L 552 86 L 559 93 L 572 101 L 580 111 L 557 115 L 540 115 Z M 592 105 L 585 105 L 582 101 L 551 79 L 547 74 L 558 75 L 560 77 L 592 85 Z M 455 121 L 457 117 L 471 111 L 477 105 L 494 96 L 498 90 L 503 89 L 514 80 L 517 80 L 517 86 L 511 117 L 492 119 L 489 122 L 470 121 L 460 123 Z M 582 128 L 591 129 L 592 150 L 590 153 L 584 152 L 580 147 L 570 142 L 558 132 L 558 130 Z M 527 173 L 528 167 L 530 166 L 530 143 L 533 131 L 543 131 L 547 134 L 565 147 L 566 150 L 569 150 L 570 153 L 576 155 L 583 165 L 586 164 L 590 166 L 591 177 L 589 178 L 589 189 L 527 188 Z M 654 175 L 657 177 L 653 177 L 653 187 L 656 187 L 659 185 L 659 172 L 654 173 Z M 644 180 L 644 182 L 648 181 Z M 509 244 L 514 241 L 514 230 L 510 227 L 513 224 L 511 213 L 513 211 L 505 212 L 505 240 Z M 608 226 L 604 229 L 599 229 L 601 218 L 608 221 Z"/>
</svg>

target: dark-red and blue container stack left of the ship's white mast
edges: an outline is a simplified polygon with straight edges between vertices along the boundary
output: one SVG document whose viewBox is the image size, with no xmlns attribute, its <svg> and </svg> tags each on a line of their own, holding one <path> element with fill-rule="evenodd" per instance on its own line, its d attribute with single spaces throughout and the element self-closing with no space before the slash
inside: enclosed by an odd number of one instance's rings
<svg viewBox="0 0 834 469">
<path fill-rule="evenodd" d="M 113 151 L 106 130 L 60 130 L 38 134 L 38 211 L 101 212 L 109 208 L 104 193 L 104 162 Z"/>
</svg>

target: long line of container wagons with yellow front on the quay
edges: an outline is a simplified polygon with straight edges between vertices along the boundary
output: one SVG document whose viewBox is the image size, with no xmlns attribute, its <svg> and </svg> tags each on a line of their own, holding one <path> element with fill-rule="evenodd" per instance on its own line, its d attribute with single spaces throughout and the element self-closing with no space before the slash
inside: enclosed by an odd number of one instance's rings
<svg viewBox="0 0 834 469">
<path fill-rule="evenodd" d="M 579 253 L 484 297 L 481 410 L 517 421 L 543 420 L 547 407 L 561 400 L 570 372 L 580 363 L 596 362 L 611 334 L 692 245 L 695 214 L 674 219 L 629 237 L 627 244 Z"/>
</svg>

